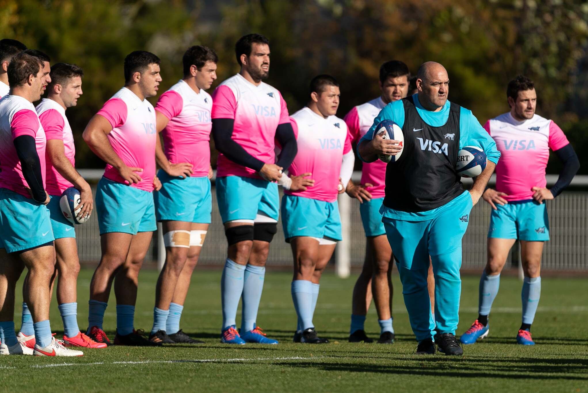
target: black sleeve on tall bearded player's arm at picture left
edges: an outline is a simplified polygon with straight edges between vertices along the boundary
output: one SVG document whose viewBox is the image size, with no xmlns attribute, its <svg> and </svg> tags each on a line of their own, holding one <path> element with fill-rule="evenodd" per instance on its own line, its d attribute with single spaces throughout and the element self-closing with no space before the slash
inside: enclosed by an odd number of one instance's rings
<svg viewBox="0 0 588 393">
<path fill-rule="evenodd" d="M 243 149 L 243 146 L 233 141 L 234 119 L 212 119 L 212 137 L 215 139 L 216 149 L 230 161 L 258 171 L 265 162 L 260 161 Z"/>
</svg>

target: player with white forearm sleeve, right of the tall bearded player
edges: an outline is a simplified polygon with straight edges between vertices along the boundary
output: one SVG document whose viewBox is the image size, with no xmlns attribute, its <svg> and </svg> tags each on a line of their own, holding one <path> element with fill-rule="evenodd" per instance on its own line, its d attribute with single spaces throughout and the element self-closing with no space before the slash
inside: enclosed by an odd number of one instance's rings
<svg viewBox="0 0 588 393">
<path fill-rule="evenodd" d="M 298 315 L 295 342 L 323 344 L 312 316 L 319 296 L 320 275 L 341 240 L 338 194 L 344 192 L 355 157 L 339 108 L 339 84 L 330 75 L 310 81 L 310 101 L 292 115 L 298 154 L 289 168 L 292 176 L 312 176 L 313 185 L 286 189 L 282 198 L 282 226 L 292 247 L 294 277 L 292 300 Z"/>
</svg>

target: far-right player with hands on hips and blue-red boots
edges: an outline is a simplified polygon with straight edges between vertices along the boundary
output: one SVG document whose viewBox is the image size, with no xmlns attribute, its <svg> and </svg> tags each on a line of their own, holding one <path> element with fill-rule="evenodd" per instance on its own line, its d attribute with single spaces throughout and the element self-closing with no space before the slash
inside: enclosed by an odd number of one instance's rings
<svg viewBox="0 0 588 393">
<path fill-rule="evenodd" d="M 484 128 L 496 141 L 501 158 L 496 166 L 496 189 L 488 188 L 482 198 L 492 207 L 488 230 L 488 259 L 480 278 L 479 315 L 460 337 L 473 344 L 487 337 L 488 315 L 498 293 L 500 272 L 517 239 L 523 266 L 523 321 L 516 341 L 533 345 L 531 324 L 541 294 L 541 255 L 549 240 L 545 201 L 559 195 L 572 182 L 580 162 L 566 135 L 553 120 L 535 113 L 537 93 L 533 81 L 517 76 L 509 82 L 506 95 L 510 112 L 490 119 Z M 549 149 L 563 162 L 556 184 L 546 188 L 545 168 Z M 522 164 L 524 163 L 524 164 Z"/>
</svg>

